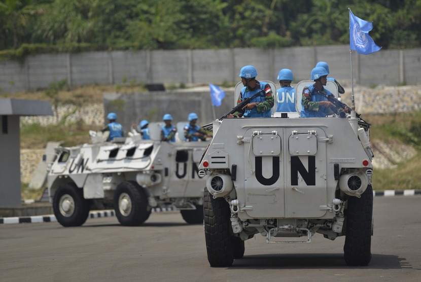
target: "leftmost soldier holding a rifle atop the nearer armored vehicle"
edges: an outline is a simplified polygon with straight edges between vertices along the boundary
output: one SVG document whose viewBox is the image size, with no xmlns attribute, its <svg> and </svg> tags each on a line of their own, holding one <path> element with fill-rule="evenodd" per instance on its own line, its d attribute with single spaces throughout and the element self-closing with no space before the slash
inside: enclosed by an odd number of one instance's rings
<svg viewBox="0 0 421 282">
<path fill-rule="evenodd" d="M 229 114 L 228 118 L 260 118 L 270 117 L 271 109 L 275 102 L 273 98 L 272 90 L 269 84 L 256 80 L 257 70 L 252 65 L 245 65 L 241 68 L 239 77 L 241 78 L 242 85 L 244 87 L 238 96 L 237 104 L 239 104 L 243 98 L 248 98 L 263 90 L 262 95 L 255 97 L 250 103 L 242 108 L 241 112 L 235 112 Z"/>
</svg>

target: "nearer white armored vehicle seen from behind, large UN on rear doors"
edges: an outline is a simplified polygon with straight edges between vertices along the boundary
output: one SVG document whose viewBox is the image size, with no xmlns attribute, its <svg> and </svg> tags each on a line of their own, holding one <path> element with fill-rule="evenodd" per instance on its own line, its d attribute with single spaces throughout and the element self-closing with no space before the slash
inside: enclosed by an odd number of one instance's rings
<svg viewBox="0 0 421 282">
<path fill-rule="evenodd" d="M 296 86 L 297 112 L 303 86 L 312 83 Z M 345 262 L 369 263 L 373 154 L 369 124 L 356 115 L 275 113 L 213 122 L 214 138 L 199 165 L 199 175 L 207 175 L 204 230 L 211 266 L 242 258 L 244 241 L 255 234 L 267 243 L 310 243 L 315 233 L 329 240 L 345 236 Z"/>
</svg>

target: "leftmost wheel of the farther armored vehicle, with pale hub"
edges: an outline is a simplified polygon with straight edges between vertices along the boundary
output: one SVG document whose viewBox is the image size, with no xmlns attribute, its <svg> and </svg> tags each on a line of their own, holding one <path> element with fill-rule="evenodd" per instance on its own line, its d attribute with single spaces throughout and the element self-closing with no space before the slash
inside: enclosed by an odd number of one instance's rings
<svg viewBox="0 0 421 282">
<path fill-rule="evenodd" d="M 54 215 L 62 226 L 81 226 L 89 216 L 90 201 L 74 183 L 61 185 L 54 194 Z"/>
</svg>

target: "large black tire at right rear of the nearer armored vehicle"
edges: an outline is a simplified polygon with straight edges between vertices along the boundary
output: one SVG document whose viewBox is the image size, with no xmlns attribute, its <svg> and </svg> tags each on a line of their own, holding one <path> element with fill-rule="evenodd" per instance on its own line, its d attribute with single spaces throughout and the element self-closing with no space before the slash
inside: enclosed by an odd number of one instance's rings
<svg viewBox="0 0 421 282">
<path fill-rule="evenodd" d="M 350 197 L 346 209 L 344 259 L 350 266 L 366 266 L 371 260 L 373 188 L 369 185 L 360 198 Z"/>
</svg>

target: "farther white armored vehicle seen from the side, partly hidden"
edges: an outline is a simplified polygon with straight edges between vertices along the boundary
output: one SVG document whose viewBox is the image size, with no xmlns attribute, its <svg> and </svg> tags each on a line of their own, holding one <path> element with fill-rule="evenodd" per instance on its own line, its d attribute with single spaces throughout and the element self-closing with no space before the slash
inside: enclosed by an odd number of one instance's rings
<svg viewBox="0 0 421 282">
<path fill-rule="evenodd" d="M 56 148 L 48 190 L 57 221 L 80 226 L 96 206 L 114 208 L 127 226 L 141 225 L 152 208 L 177 208 L 187 223 L 202 223 L 205 180 L 197 171 L 208 142 L 160 142 L 161 124 L 150 124 L 152 140 L 93 134 L 93 144 Z"/>
</svg>

